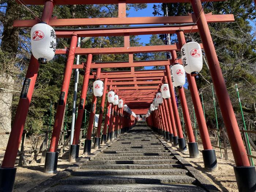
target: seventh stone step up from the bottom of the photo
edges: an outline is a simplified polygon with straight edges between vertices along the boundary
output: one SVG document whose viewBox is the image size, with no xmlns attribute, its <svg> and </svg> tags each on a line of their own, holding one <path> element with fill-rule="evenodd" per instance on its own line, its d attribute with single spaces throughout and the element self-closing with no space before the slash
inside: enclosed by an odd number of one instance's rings
<svg viewBox="0 0 256 192">
<path fill-rule="evenodd" d="M 110 152 L 110 151 L 109 151 Z M 170 156 L 172 153 L 169 153 L 167 151 L 164 151 L 162 153 L 151 153 L 149 152 L 144 152 L 143 153 L 127 153 L 127 151 L 118 151 L 121 153 L 117 153 L 117 151 L 113 151 L 116 153 L 101 153 L 98 154 L 97 157 L 132 157 L 132 156 Z"/>
</svg>

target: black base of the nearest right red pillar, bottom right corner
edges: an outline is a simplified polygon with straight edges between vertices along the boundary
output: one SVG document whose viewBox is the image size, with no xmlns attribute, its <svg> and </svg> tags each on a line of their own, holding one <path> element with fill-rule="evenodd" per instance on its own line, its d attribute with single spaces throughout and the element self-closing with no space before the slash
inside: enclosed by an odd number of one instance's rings
<svg viewBox="0 0 256 192">
<path fill-rule="evenodd" d="M 256 169 L 255 166 L 234 167 L 239 192 L 256 191 Z"/>
</svg>

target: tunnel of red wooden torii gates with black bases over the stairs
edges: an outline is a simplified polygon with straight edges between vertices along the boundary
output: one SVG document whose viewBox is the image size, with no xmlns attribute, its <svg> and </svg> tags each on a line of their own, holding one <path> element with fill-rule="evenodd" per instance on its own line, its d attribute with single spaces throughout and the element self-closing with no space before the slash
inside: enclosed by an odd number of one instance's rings
<svg viewBox="0 0 256 192">
<path fill-rule="evenodd" d="M 206 1 L 206 0 L 202 0 Z M 208 1 L 223 1 L 223 0 L 208 0 Z M 73 143 L 70 149 L 70 161 L 74 162 L 78 157 L 77 150 L 79 142 L 79 132 L 82 124 L 84 112 L 84 101 L 86 99 L 87 87 L 89 79 L 101 79 L 104 81 L 104 91 L 102 96 L 101 110 L 98 122 L 98 129 L 95 138 L 94 148 L 99 146 L 99 137 L 102 125 L 102 117 L 104 111 L 105 97 L 108 90 L 115 91 L 122 98 L 124 103 L 136 114 L 146 114 L 147 109 L 155 98 L 155 94 L 160 91 L 162 83 L 168 83 L 171 98 L 164 99 L 162 105 L 159 105 L 146 119 L 148 125 L 158 133 L 162 134 L 166 139 L 170 140 L 174 146 L 179 149 L 187 150 L 186 142 L 182 133 L 181 121 L 178 114 L 178 109 L 175 100 L 173 84 L 170 76 L 170 66 L 174 63 L 182 63 L 177 59 L 176 52 L 180 51 L 182 45 L 185 44 L 185 33 L 199 33 L 202 39 L 201 47 L 204 49 L 208 65 L 210 68 L 212 82 L 216 91 L 217 99 L 226 126 L 227 135 L 229 137 L 231 149 L 233 151 L 236 166 L 234 172 L 237 178 L 238 189 L 243 190 L 244 186 L 248 190 L 255 189 L 256 186 L 256 171 L 254 166 L 250 166 L 244 143 L 242 141 L 237 120 L 231 105 L 229 94 L 227 93 L 226 84 L 223 79 L 221 67 L 218 57 L 215 52 L 211 34 L 207 23 L 213 22 L 233 22 L 233 15 L 212 15 L 204 14 L 202 2 L 200 0 L 23 0 L 24 4 L 28 5 L 44 5 L 41 21 L 49 24 L 52 27 L 65 26 L 107 26 L 107 25 L 138 25 L 136 27 L 120 27 L 120 28 L 88 28 L 88 29 L 56 29 L 57 38 L 71 38 L 69 48 L 56 49 L 56 54 L 67 54 L 67 63 L 65 66 L 63 84 L 60 92 L 60 100 L 57 107 L 55 123 L 52 132 L 49 152 L 46 155 L 45 173 L 56 173 L 57 170 L 57 145 L 59 141 L 61 125 L 64 116 L 65 105 L 67 101 L 67 93 L 72 70 L 79 68 L 84 69 L 83 88 L 80 98 L 78 117 L 75 125 L 75 133 Z M 17 3 L 20 3 L 17 0 Z M 163 16 L 163 17 L 126 17 L 126 4 L 129 3 L 190 3 L 193 8 L 193 14 L 187 16 Z M 118 18 L 79 18 L 79 19 L 57 19 L 52 18 L 54 5 L 64 4 L 118 4 Z M 38 19 L 33 20 L 15 20 L 14 27 L 32 27 L 39 23 Z M 142 24 L 169 24 L 161 26 L 139 26 Z M 172 25 L 174 24 L 174 25 Z M 130 35 L 146 35 L 146 34 L 177 34 L 178 44 L 174 45 L 159 45 L 159 46 L 141 46 L 131 47 Z M 78 37 L 101 37 L 101 36 L 124 36 L 124 47 L 114 48 L 80 48 L 76 47 Z M 172 59 L 161 61 L 133 61 L 134 53 L 147 52 L 170 52 Z M 87 55 L 86 63 L 74 65 L 75 55 Z M 129 54 L 127 62 L 112 62 L 112 63 L 92 63 L 92 56 L 95 54 Z M 139 70 L 135 67 L 146 66 L 165 66 L 164 70 Z M 101 68 L 124 68 L 131 67 L 130 71 L 101 71 Z M 0 168 L 0 191 L 12 191 L 16 167 L 15 160 L 20 144 L 24 124 L 29 110 L 30 101 L 33 95 L 34 85 L 37 78 L 39 63 L 37 59 L 31 56 L 29 67 L 26 73 L 26 84 L 23 85 L 23 90 L 26 89 L 26 97 L 19 99 L 18 108 L 12 124 L 10 138 L 5 151 L 3 163 Z M 97 69 L 92 71 L 91 69 Z M 208 135 L 206 121 L 203 116 L 203 109 L 200 102 L 196 81 L 193 76 L 187 74 L 190 93 L 195 108 L 196 119 L 199 124 L 200 136 L 204 150 L 203 160 L 204 167 L 207 170 L 213 171 L 218 169 L 215 151 L 212 149 L 210 137 Z M 183 87 L 178 89 L 178 94 L 181 100 L 182 111 L 184 113 L 185 128 L 188 135 L 188 149 L 190 157 L 198 157 L 198 146 L 193 135 L 191 120 L 189 117 L 187 101 Z M 87 130 L 86 144 L 84 154 L 90 154 L 91 151 L 91 133 L 93 129 L 93 121 L 95 115 L 97 98 L 93 97 L 92 107 L 90 112 L 90 120 Z M 112 106 L 112 107 L 111 107 Z M 105 114 L 105 123 L 103 127 L 102 143 L 113 140 L 121 133 L 131 129 L 137 118 L 131 116 L 117 105 L 113 106 L 107 103 Z M 109 121 L 109 126 L 108 126 Z"/>
</svg>

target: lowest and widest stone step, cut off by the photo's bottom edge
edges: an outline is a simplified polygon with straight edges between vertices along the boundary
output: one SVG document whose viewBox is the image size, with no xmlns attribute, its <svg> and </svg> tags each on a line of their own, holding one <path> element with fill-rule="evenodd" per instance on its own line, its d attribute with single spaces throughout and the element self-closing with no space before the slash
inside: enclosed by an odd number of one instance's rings
<svg viewBox="0 0 256 192">
<path fill-rule="evenodd" d="M 57 185 L 46 192 L 204 192 L 190 184 Z"/>
</svg>

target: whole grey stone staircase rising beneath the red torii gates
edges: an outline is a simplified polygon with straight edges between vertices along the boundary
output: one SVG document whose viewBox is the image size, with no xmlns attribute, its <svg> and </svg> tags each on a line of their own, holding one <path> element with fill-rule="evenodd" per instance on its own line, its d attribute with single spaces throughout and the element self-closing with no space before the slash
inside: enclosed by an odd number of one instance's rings
<svg viewBox="0 0 256 192">
<path fill-rule="evenodd" d="M 83 164 L 47 191 L 205 191 L 143 124 Z"/>
</svg>

